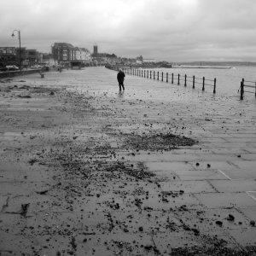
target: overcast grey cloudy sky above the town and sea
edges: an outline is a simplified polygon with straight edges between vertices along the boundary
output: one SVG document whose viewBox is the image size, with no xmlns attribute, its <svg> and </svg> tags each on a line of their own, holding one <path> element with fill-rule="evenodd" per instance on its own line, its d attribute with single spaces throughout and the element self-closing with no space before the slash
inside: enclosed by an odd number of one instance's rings
<svg viewBox="0 0 256 256">
<path fill-rule="evenodd" d="M 0 46 L 64 42 L 158 61 L 256 61 L 256 0 L 0 0 Z"/>
</svg>

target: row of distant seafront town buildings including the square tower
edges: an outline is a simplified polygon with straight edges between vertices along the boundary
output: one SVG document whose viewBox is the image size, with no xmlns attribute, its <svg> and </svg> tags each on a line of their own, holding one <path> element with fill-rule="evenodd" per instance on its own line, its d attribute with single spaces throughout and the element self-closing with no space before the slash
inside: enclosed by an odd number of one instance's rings
<svg viewBox="0 0 256 256">
<path fill-rule="evenodd" d="M 22 67 L 32 67 L 38 64 L 65 67 L 105 65 L 153 67 L 157 64 L 154 59 L 143 58 L 143 55 L 136 58 L 125 58 L 115 54 L 100 53 L 96 44 L 93 45 L 92 53 L 89 49 L 73 46 L 69 43 L 52 44 L 50 54 L 40 53 L 37 49 L 26 49 L 25 47 L 20 49 L 8 46 L 0 47 L 0 67 L 17 65 L 20 62 Z"/>
</svg>

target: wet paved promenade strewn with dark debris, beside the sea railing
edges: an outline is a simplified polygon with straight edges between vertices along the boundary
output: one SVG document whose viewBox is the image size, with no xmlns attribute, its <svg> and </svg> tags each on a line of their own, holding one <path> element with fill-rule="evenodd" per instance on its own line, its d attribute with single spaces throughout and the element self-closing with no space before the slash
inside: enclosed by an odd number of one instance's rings
<svg viewBox="0 0 256 256">
<path fill-rule="evenodd" d="M 104 67 L 0 81 L 0 255 L 255 255 L 256 101 Z"/>
</svg>

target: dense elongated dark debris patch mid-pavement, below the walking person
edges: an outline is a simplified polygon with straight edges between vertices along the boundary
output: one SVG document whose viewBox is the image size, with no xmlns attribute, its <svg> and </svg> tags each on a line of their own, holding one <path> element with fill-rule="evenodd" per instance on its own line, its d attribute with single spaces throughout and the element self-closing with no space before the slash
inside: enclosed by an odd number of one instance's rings
<svg viewBox="0 0 256 256">
<path fill-rule="evenodd" d="M 172 133 L 155 135 L 123 134 L 125 146 L 137 150 L 172 150 L 178 147 L 191 147 L 196 142 L 189 137 L 181 137 Z"/>
</svg>

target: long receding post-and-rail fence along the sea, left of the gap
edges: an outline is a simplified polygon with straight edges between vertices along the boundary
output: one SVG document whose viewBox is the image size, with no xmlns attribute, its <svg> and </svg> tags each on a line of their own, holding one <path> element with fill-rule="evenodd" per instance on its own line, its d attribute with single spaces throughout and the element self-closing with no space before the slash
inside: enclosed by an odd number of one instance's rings
<svg viewBox="0 0 256 256">
<path fill-rule="evenodd" d="M 142 77 L 145 79 L 154 79 L 160 80 L 162 82 L 169 83 L 169 81 L 177 85 L 183 84 L 184 86 L 188 86 L 189 84 L 192 85 L 192 88 L 195 89 L 196 85 L 201 85 L 201 90 L 205 90 L 206 86 L 211 86 L 213 88 L 213 93 L 216 93 L 216 82 L 217 79 L 206 79 L 203 78 L 196 78 L 195 76 L 187 76 L 181 74 L 174 74 L 174 73 L 163 73 L 159 71 L 152 71 L 152 70 L 143 70 L 143 69 L 131 69 L 131 68 L 124 68 L 124 72 L 126 74 L 130 74 L 133 76 Z"/>
</svg>

